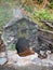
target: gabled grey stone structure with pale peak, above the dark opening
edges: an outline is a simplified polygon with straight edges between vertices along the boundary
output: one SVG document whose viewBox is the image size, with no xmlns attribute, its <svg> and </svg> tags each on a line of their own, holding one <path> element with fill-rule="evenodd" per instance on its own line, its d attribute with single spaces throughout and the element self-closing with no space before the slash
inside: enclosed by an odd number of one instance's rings
<svg viewBox="0 0 53 70">
<path fill-rule="evenodd" d="M 29 41 L 29 44 L 35 46 L 34 43 L 38 44 L 37 28 L 38 28 L 38 25 L 31 22 L 27 16 L 24 16 L 22 11 L 18 9 L 16 16 L 14 16 L 3 27 L 2 39 L 4 43 L 9 46 L 11 43 L 16 43 L 18 38 L 25 37 Z"/>
</svg>

